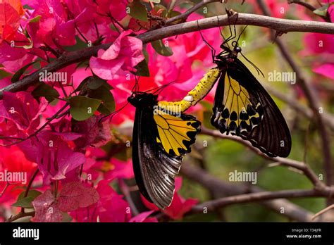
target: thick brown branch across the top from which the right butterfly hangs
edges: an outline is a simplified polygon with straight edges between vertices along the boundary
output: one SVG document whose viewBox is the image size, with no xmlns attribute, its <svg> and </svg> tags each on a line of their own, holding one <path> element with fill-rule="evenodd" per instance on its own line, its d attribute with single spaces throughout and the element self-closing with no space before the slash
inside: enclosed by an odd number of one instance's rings
<svg viewBox="0 0 334 245">
<path fill-rule="evenodd" d="M 235 22 L 235 15 L 230 17 L 230 22 Z M 185 34 L 187 32 L 195 32 L 197 30 L 204 30 L 218 26 L 228 25 L 228 15 L 219 15 L 211 18 L 204 18 L 198 21 L 190 21 L 187 23 L 181 23 L 178 25 L 171 25 L 162 27 L 159 30 L 152 30 L 137 35 L 137 38 L 141 39 L 144 44 L 153 42 L 166 37 L 172 37 L 178 34 Z M 260 27 L 267 27 L 278 32 L 320 32 L 334 34 L 334 24 L 323 23 L 317 21 L 304 21 L 304 20 L 285 20 L 280 18 L 272 18 L 264 15 L 254 15 L 249 13 L 239 13 L 237 22 L 235 25 L 254 25 Z M 32 84 L 35 84 L 39 80 L 39 73 L 43 73 L 46 70 L 49 73 L 55 72 L 66 66 L 80 61 L 85 61 L 91 56 L 97 56 L 99 49 L 108 49 L 111 43 L 101 44 L 98 46 L 89 47 L 79 51 L 73 51 L 66 54 L 61 54 L 59 58 L 56 58 L 52 63 L 37 70 L 31 75 L 27 75 L 23 79 L 8 85 L 0 89 L 0 99 L 2 99 L 3 92 L 18 92 L 27 89 Z"/>
</svg>

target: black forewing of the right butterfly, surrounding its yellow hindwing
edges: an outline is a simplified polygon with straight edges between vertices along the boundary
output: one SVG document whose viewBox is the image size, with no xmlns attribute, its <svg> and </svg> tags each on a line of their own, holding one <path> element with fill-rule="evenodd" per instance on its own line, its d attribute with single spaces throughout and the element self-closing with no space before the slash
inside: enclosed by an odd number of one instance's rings
<svg viewBox="0 0 334 245">
<path fill-rule="evenodd" d="M 256 80 L 248 68 L 237 58 L 234 63 L 229 63 L 226 72 L 223 72 L 218 82 L 214 101 L 214 113 L 223 104 L 224 79 L 229 75 L 242 84 L 249 93 L 254 105 L 261 104 L 263 117 L 259 125 L 252 130 L 238 132 L 237 135 L 252 143 L 253 146 L 266 153 L 268 156 L 286 157 L 291 151 L 291 136 L 289 128 L 282 113 L 266 92 L 264 87 Z M 211 121 L 212 122 L 212 121 Z M 214 125 L 214 124 L 213 124 Z M 218 125 L 214 125 L 218 127 Z"/>
</svg>

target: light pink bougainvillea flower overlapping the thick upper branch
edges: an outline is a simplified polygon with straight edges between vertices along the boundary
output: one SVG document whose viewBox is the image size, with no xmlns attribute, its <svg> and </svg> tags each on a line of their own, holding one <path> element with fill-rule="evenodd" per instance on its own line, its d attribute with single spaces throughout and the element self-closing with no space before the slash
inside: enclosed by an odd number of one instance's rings
<svg viewBox="0 0 334 245">
<path fill-rule="evenodd" d="M 130 37 L 130 33 L 122 32 L 109 49 L 100 49 L 97 57 L 90 58 L 90 68 L 94 74 L 105 80 L 112 80 L 120 69 L 135 71 L 135 65 L 144 59 L 144 55 L 142 41 Z"/>
</svg>

